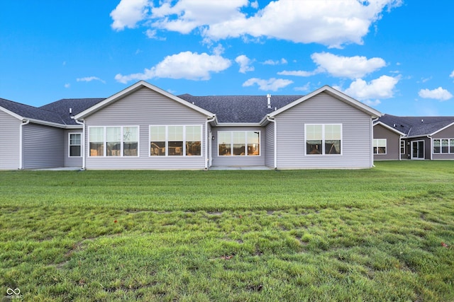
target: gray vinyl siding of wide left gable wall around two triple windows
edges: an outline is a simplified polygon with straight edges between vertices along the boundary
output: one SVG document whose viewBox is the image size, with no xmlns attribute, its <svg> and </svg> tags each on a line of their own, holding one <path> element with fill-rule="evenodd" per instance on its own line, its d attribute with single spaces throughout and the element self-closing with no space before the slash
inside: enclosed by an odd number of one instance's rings
<svg viewBox="0 0 454 302">
<path fill-rule="evenodd" d="M 150 125 L 201 125 L 205 138 L 206 115 L 148 88 L 142 88 L 86 118 L 87 169 L 204 169 L 205 143 L 201 156 L 149 156 Z M 139 126 L 139 156 L 89 156 L 89 127 Z"/>
</svg>

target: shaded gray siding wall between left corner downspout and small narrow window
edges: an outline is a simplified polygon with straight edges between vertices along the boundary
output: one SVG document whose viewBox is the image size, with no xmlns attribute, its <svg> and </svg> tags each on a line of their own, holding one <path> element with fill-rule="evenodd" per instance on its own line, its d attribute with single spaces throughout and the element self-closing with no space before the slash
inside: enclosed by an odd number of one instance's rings
<svg viewBox="0 0 454 302">
<path fill-rule="evenodd" d="M 23 126 L 23 168 L 56 168 L 65 165 L 65 130 L 40 124 Z"/>
</svg>

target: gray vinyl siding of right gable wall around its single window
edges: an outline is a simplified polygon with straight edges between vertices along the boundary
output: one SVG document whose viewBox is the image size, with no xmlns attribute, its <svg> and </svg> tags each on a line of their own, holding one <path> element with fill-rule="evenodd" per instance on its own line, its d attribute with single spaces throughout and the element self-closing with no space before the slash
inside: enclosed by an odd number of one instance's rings
<svg viewBox="0 0 454 302">
<path fill-rule="evenodd" d="M 320 93 L 275 117 L 277 168 L 370 168 L 370 115 Z M 342 124 L 342 155 L 305 154 L 304 124 Z"/>
</svg>

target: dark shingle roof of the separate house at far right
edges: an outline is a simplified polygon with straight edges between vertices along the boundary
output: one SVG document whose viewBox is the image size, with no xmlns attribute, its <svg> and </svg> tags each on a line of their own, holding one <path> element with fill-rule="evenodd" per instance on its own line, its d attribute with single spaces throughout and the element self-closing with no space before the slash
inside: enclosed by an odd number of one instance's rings
<svg viewBox="0 0 454 302">
<path fill-rule="evenodd" d="M 382 115 L 379 121 L 403 132 L 408 137 L 423 137 L 454 123 L 454 117 L 398 117 L 396 115 Z"/>
</svg>

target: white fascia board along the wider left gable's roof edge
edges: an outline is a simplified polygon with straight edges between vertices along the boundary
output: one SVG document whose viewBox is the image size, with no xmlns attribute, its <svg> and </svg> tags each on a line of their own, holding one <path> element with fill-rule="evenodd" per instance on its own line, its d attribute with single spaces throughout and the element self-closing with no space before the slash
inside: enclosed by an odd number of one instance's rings
<svg viewBox="0 0 454 302">
<path fill-rule="evenodd" d="M 76 120 L 83 119 L 84 117 L 87 117 L 87 115 L 90 115 L 90 114 L 100 110 L 101 108 L 106 107 L 106 105 L 109 105 L 109 103 L 112 103 L 120 98 L 124 98 L 126 95 L 130 95 L 131 93 L 138 91 L 140 88 L 143 88 L 143 87 L 149 88 L 152 91 L 165 95 L 165 96 L 167 96 L 167 98 L 175 100 L 178 103 L 181 103 L 182 105 L 185 105 L 189 108 L 192 108 L 192 109 L 202 113 L 203 115 L 206 115 L 208 117 L 214 117 L 214 113 L 206 111 L 206 110 L 200 108 L 199 106 L 196 106 L 192 103 L 187 102 L 186 100 L 183 100 L 182 98 L 178 98 L 177 95 L 172 95 L 172 93 L 168 93 L 167 91 L 164 91 L 161 88 L 151 85 L 150 83 L 147 83 L 145 81 L 138 81 L 137 83 L 129 86 L 128 88 L 123 89 L 122 91 L 120 91 L 118 93 L 115 93 L 114 95 L 111 95 L 109 98 L 106 98 L 102 102 L 97 103 L 96 105 L 88 108 L 87 110 L 84 110 L 84 111 L 80 112 L 79 114 L 74 115 L 74 119 L 76 119 Z"/>
</svg>

